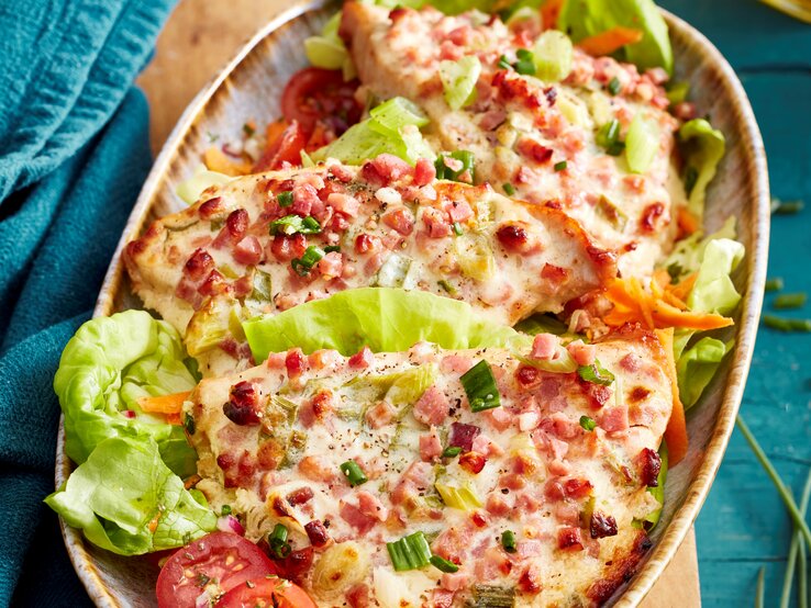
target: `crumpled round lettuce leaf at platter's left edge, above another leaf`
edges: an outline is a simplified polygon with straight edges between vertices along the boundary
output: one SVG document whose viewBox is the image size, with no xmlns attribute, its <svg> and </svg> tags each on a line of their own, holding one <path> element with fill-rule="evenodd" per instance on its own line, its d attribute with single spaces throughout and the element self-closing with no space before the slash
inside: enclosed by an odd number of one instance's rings
<svg viewBox="0 0 811 608">
<path fill-rule="evenodd" d="M 185 358 L 175 328 L 144 311 L 84 324 L 65 347 L 54 378 L 65 414 L 68 457 L 81 464 L 104 439 L 148 437 L 157 442 L 169 469 L 184 476 L 192 474 L 197 457 L 182 428 L 141 410 L 137 404 L 141 397 L 193 389 L 197 382 Z"/>
</svg>

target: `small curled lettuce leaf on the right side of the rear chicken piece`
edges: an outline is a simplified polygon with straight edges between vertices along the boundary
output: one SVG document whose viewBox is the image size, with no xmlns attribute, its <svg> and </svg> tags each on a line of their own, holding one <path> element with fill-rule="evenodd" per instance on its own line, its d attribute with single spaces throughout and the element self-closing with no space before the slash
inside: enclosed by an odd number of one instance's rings
<svg viewBox="0 0 811 608">
<path fill-rule="evenodd" d="M 685 189 L 689 211 L 701 219 L 707 187 L 715 177 L 718 164 L 726 149 L 726 140 L 724 134 L 712 128 L 704 119 L 695 119 L 679 128 L 679 148 L 685 159 Z"/>
</svg>

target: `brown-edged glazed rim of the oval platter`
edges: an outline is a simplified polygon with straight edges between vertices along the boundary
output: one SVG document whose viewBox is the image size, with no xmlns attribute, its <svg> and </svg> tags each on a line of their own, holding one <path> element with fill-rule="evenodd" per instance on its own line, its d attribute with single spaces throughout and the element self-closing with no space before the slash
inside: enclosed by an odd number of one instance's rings
<svg viewBox="0 0 811 608">
<path fill-rule="evenodd" d="M 126 243 L 134 236 L 137 236 L 143 229 L 148 218 L 153 201 L 159 191 L 160 183 L 168 174 L 171 160 L 178 148 L 182 145 L 187 132 L 202 117 L 209 100 L 265 37 L 289 21 L 309 11 L 325 8 L 331 3 L 336 2 L 335 0 L 297 0 L 292 7 L 279 12 L 279 14 L 263 25 L 256 34 L 240 47 L 233 58 L 195 95 L 164 143 L 142 187 L 141 193 L 116 245 L 107 274 L 104 275 L 104 281 L 93 308 L 93 318 L 109 316 L 114 312 L 114 296 L 121 288 L 124 275 L 121 251 Z M 718 473 L 726 451 L 726 446 L 732 436 L 735 417 L 743 399 L 763 306 L 763 293 L 768 262 L 770 218 L 769 179 L 763 138 L 748 97 L 730 64 L 701 32 L 669 11 L 665 9 L 660 9 L 660 11 L 665 15 L 668 27 L 671 30 L 677 29 L 682 35 L 689 37 L 696 44 L 699 52 L 703 54 L 704 60 L 720 72 L 724 85 L 731 89 L 730 97 L 733 106 L 730 111 L 737 113 L 733 122 L 737 127 L 742 127 L 740 132 L 741 145 L 744 148 L 744 160 L 749 171 L 749 183 L 746 184 L 745 191 L 752 194 L 752 198 L 755 200 L 755 206 L 752 210 L 753 226 L 749 227 L 753 230 L 753 239 L 749 250 L 746 252 L 751 266 L 747 272 L 746 291 L 742 300 L 740 322 L 737 323 L 738 329 L 736 331 L 734 358 L 730 361 L 726 383 L 715 416 L 714 428 L 710 434 L 702 462 L 698 465 L 692 481 L 687 486 L 681 506 L 674 513 L 670 522 L 665 528 L 653 551 L 646 556 L 643 565 L 634 574 L 627 587 L 615 598 L 614 606 L 622 608 L 637 606 L 653 588 L 684 542 L 698 517 L 701 506 L 709 495 L 712 482 Z M 67 480 L 73 470 L 71 462 L 65 454 L 64 447 L 64 415 L 60 415 L 56 446 L 56 487 L 59 487 Z M 100 577 L 92 556 L 87 552 L 81 531 L 70 528 L 62 518 L 59 518 L 59 527 L 74 568 L 90 598 L 97 606 L 120 606 L 121 604 L 115 595 L 110 592 Z"/>
</svg>

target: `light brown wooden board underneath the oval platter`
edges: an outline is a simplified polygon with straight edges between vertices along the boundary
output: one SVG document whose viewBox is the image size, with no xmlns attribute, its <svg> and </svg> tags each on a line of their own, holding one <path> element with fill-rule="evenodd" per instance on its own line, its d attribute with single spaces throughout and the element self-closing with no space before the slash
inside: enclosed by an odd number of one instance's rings
<svg viewBox="0 0 811 608">
<path fill-rule="evenodd" d="M 158 37 L 138 85 L 151 110 L 152 148 L 162 148 L 191 99 L 264 23 L 288 7 L 284 0 L 180 0 Z M 701 606 L 692 531 L 642 608 Z"/>
</svg>

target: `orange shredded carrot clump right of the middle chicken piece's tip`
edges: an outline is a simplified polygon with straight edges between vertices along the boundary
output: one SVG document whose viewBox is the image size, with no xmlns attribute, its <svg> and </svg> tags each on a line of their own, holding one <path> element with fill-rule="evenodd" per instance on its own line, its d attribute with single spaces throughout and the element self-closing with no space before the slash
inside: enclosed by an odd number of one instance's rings
<svg viewBox="0 0 811 608">
<path fill-rule="evenodd" d="M 692 281 L 695 282 L 695 279 Z M 688 289 L 686 285 L 677 290 L 679 285 L 673 286 L 667 295 L 666 290 L 656 281 L 652 281 L 651 291 L 646 291 L 638 279 L 614 279 L 606 291 L 606 297 L 614 307 L 603 317 L 603 320 L 611 327 L 620 327 L 626 323 L 642 323 L 648 329 L 682 327 L 704 330 L 733 325 L 734 322 L 731 318 L 721 315 L 686 311 L 684 299 L 679 295 L 684 291 L 689 293 L 691 286 Z"/>
</svg>

